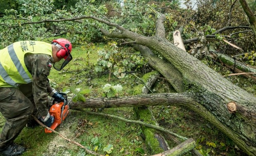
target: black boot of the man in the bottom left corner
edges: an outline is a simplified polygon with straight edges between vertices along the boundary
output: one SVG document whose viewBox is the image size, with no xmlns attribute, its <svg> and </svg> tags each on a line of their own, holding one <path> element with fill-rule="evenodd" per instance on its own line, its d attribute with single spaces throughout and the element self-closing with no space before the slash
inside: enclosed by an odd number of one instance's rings
<svg viewBox="0 0 256 156">
<path fill-rule="evenodd" d="M 23 154 L 25 147 L 12 143 L 11 145 L 0 149 L 0 156 L 19 156 Z"/>
</svg>

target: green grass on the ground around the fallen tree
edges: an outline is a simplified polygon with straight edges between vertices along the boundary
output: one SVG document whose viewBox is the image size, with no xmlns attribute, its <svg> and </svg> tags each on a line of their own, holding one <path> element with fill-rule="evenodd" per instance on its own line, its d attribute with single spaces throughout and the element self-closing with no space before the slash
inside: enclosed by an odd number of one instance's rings
<svg viewBox="0 0 256 156">
<path fill-rule="evenodd" d="M 103 48 L 103 46 L 87 45 L 86 47 L 73 48 L 73 61 L 63 71 L 51 70 L 49 76 L 51 85 L 60 92 L 68 89 L 72 92 L 76 88 L 90 89 L 90 93 L 85 94 L 85 96 L 97 98 L 102 97 L 102 87 L 106 83 L 111 85 L 121 84 L 123 92 L 119 96 L 132 95 L 133 86 L 138 84 L 134 78 L 119 79 L 111 76 L 109 80 L 109 74 L 95 75 L 92 67 L 97 60 L 97 50 Z M 249 85 L 245 83 L 247 82 L 246 79 L 242 80 L 244 82 L 242 84 Z M 245 85 L 243 86 L 245 87 Z M 249 90 L 254 88 L 253 86 L 248 87 Z M 170 92 L 173 90 L 164 79 L 159 79 L 154 88 L 156 92 Z M 133 108 L 85 110 L 101 111 L 127 119 L 135 119 Z M 191 110 L 180 106 L 154 106 L 152 110 L 160 126 L 184 137 L 197 140 L 197 149 L 205 156 L 208 154 L 226 156 L 245 155 L 216 127 Z M 1 117 L 1 127 L 3 122 L 4 119 Z M 144 149 L 145 154 L 148 154 L 144 140 L 141 137 L 140 126 L 128 124 L 117 119 L 88 115 L 78 110 L 70 110 L 68 117 L 56 130 L 67 138 L 102 155 L 106 154 L 108 145 L 113 145 L 110 156 L 140 156 L 136 152 L 138 147 Z M 173 141 L 169 140 L 168 135 L 165 134 L 165 136 L 170 147 L 176 146 Z M 43 127 L 33 129 L 25 127 L 15 142 L 27 148 L 27 151 L 22 156 L 90 156 L 83 149 L 67 142 L 58 135 L 44 133 Z"/>
</svg>

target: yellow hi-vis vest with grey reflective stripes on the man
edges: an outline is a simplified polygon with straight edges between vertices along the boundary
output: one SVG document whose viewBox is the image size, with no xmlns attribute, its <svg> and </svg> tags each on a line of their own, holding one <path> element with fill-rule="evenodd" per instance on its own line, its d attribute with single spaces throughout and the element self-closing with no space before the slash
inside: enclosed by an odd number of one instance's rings
<svg viewBox="0 0 256 156">
<path fill-rule="evenodd" d="M 42 41 L 18 41 L 0 50 L 0 87 L 18 87 L 32 82 L 24 62 L 26 53 L 52 56 L 52 45 Z"/>
</svg>

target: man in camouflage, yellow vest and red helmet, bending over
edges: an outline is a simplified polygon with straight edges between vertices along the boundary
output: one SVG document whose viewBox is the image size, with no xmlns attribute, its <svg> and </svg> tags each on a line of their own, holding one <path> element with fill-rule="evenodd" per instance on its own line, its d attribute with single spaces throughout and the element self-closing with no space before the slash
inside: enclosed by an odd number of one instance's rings
<svg viewBox="0 0 256 156">
<path fill-rule="evenodd" d="M 53 67 L 60 71 L 72 60 L 72 45 L 66 39 L 52 44 L 19 41 L 0 50 L 0 112 L 6 119 L 0 135 L 0 154 L 21 155 L 25 148 L 13 141 L 32 114 L 50 127 L 54 121 L 47 109 L 48 95 L 63 100 L 50 87 L 47 76 Z"/>
</svg>

